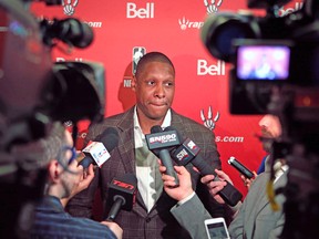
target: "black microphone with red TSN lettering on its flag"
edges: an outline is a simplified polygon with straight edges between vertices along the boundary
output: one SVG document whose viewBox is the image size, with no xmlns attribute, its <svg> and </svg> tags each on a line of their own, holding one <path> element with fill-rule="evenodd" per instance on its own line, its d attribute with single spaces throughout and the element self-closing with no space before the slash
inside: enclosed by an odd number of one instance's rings
<svg viewBox="0 0 319 239">
<path fill-rule="evenodd" d="M 114 221 L 120 209 L 132 210 L 136 191 L 137 178 L 134 174 L 125 174 L 122 177 L 113 178 L 107 190 L 106 204 L 112 205 L 112 208 L 106 220 Z"/>
</svg>

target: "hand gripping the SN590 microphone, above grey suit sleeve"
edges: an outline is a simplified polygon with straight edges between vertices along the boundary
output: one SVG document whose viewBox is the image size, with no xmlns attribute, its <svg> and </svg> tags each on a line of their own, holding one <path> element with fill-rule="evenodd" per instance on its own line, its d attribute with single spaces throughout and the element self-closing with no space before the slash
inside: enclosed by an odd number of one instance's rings
<svg viewBox="0 0 319 239">
<path fill-rule="evenodd" d="M 169 197 L 172 197 L 173 199 L 177 201 L 181 201 L 184 198 L 192 195 L 194 191 L 192 188 L 191 174 L 187 172 L 187 169 L 184 166 L 174 166 L 174 169 L 179 179 L 179 186 L 177 187 L 175 184 L 175 178 L 165 174 L 166 167 L 162 165 L 160 166 L 164 190 Z"/>
</svg>

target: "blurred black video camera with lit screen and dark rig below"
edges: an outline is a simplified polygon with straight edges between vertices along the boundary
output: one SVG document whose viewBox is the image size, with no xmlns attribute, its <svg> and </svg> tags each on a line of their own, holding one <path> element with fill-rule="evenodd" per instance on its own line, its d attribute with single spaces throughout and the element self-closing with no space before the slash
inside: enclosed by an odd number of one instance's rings
<svg viewBox="0 0 319 239">
<path fill-rule="evenodd" d="M 280 238 L 319 235 L 319 1 L 284 17 L 289 0 L 248 0 L 251 12 L 217 12 L 204 22 L 202 40 L 209 53 L 233 65 L 231 114 L 274 114 L 282 135 L 272 145 L 272 164 L 289 166 L 284 188 L 286 222 Z M 280 155 L 280 156 L 279 156 Z M 274 172 L 272 172 L 274 176 Z"/>
</svg>

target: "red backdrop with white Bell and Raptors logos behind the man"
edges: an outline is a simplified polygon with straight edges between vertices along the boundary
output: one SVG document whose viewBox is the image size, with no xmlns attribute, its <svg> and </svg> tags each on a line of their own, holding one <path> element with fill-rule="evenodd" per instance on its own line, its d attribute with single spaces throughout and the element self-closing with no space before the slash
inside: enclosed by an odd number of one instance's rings
<svg viewBox="0 0 319 239">
<path fill-rule="evenodd" d="M 278 9 L 278 17 L 299 10 L 301 1 Z M 105 67 L 105 116 L 121 113 L 135 104 L 131 81 L 141 55 L 161 51 L 176 67 L 176 93 L 173 108 L 216 135 L 224 170 L 243 193 L 239 173 L 227 164 L 235 156 L 251 170 L 257 170 L 266 155 L 255 136 L 263 115 L 229 113 L 229 69 L 231 65 L 213 58 L 200 40 L 200 29 L 209 14 L 247 9 L 246 0 L 64 0 L 62 6 L 33 2 L 39 18 L 76 18 L 94 31 L 86 49 L 53 49 L 53 61 L 95 61 Z M 264 10 L 253 10 L 263 14 Z M 255 12 L 256 11 L 256 12 Z M 83 95 L 85 97 L 85 95 Z M 80 124 L 76 146 L 82 147 L 89 123 Z"/>
</svg>

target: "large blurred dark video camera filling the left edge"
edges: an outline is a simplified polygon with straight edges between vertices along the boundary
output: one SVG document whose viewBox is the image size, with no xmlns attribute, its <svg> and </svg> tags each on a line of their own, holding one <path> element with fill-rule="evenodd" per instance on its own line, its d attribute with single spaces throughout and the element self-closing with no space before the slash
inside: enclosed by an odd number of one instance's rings
<svg viewBox="0 0 319 239">
<path fill-rule="evenodd" d="M 48 6 L 61 0 L 42 0 Z M 45 137 L 54 122 L 104 117 L 104 67 L 97 62 L 56 62 L 52 48 L 89 46 L 93 31 L 78 19 L 37 19 L 28 0 L 0 1 L 0 237 L 28 238 L 47 169 L 17 159 L 11 149 Z M 34 159 L 35 160 L 35 159 Z"/>
</svg>

